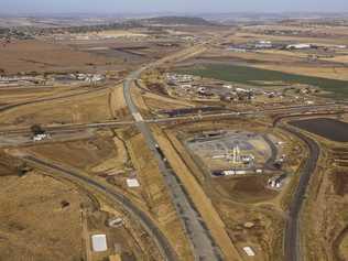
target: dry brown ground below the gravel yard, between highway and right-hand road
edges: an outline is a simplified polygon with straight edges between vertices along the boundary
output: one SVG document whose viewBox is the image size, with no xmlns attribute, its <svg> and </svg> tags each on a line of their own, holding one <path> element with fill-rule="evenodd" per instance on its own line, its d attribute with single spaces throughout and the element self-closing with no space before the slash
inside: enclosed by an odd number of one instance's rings
<svg viewBox="0 0 348 261">
<path fill-rule="evenodd" d="M 222 198 L 222 199 L 221 199 Z M 283 260 L 282 240 L 284 215 L 272 206 L 233 204 L 224 197 L 215 197 L 214 205 L 226 224 L 226 230 L 238 249 L 250 246 L 257 260 Z M 251 227 L 248 227 L 250 226 Z M 252 260 L 240 251 L 243 260 Z"/>
</svg>

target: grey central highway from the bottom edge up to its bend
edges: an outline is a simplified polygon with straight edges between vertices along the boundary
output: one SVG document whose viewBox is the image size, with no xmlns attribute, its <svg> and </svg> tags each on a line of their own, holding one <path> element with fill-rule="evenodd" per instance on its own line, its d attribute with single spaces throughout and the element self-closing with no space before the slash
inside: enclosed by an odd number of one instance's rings
<svg viewBox="0 0 348 261">
<path fill-rule="evenodd" d="M 163 153 L 161 153 L 161 149 L 157 146 L 157 142 L 151 133 L 148 123 L 142 120 L 142 117 L 132 100 L 130 88 L 132 85 L 134 85 L 134 80 L 144 69 L 146 69 L 146 67 L 132 73 L 124 80 L 123 93 L 128 108 L 135 120 L 135 127 L 143 134 L 148 146 L 159 161 L 160 170 L 171 194 L 176 213 L 188 235 L 195 260 L 221 260 L 220 250 L 213 242 L 210 233 L 203 224 L 198 211 L 193 206 L 193 203 L 181 185 L 174 171 L 171 168 L 171 166 L 168 166 L 168 163 L 164 159 Z"/>
</svg>

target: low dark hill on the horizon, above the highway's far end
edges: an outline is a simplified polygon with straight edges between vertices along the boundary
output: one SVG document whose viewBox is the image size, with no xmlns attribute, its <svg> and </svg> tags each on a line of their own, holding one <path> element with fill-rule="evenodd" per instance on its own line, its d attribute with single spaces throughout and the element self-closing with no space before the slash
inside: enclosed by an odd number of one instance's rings
<svg viewBox="0 0 348 261">
<path fill-rule="evenodd" d="M 159 17 L 159 18 L 149 18 L 142 19 L 141 21 L 149 24 L 164 24 L 164 25 L 202 25 L 202 26 L 211 26 L 217 25 L 216 23 L 209 22 L 203 18 L 195 17 Z"/>
</svg>

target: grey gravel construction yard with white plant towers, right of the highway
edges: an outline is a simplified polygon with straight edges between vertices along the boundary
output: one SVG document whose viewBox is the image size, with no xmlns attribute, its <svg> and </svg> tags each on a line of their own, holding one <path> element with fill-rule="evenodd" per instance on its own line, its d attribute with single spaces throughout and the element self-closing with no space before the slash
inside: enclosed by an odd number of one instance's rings
<svg viewBox="0 0 348 261">
<path fill-rule="evenodd" d="M 186 141 L 186 144 L 217 176 L 229 173 L 262 174 L 267 162 L 271 163 L 278 153 L 276 149 L 272 151 L 275 145 L 268 138 L 242 131 L 202 133 Z"/>
</svg>

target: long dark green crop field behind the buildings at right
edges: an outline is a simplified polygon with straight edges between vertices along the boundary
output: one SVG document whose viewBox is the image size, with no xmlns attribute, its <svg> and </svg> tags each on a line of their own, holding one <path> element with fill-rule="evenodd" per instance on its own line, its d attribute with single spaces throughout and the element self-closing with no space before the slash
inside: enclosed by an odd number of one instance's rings
<svg viewBox="0 0 348 261">
<path fill-rule="evenodd" d="M 180 69 L 181 73 L 215 78 L 220 80 L 247 84 L 252 86 L 265 86 L 259 81 L 284 81 L 287 84 L 306 84 L 317 86 L 329 91 L 329 97 L 348 98 L 348 81 L 320 77 L 286 74 L 270 69 L 260 69 L 241 65 L 207 64 L 199 67 Z M 269 85 L 268 85 L 269 86 Z"/>
</svg>

